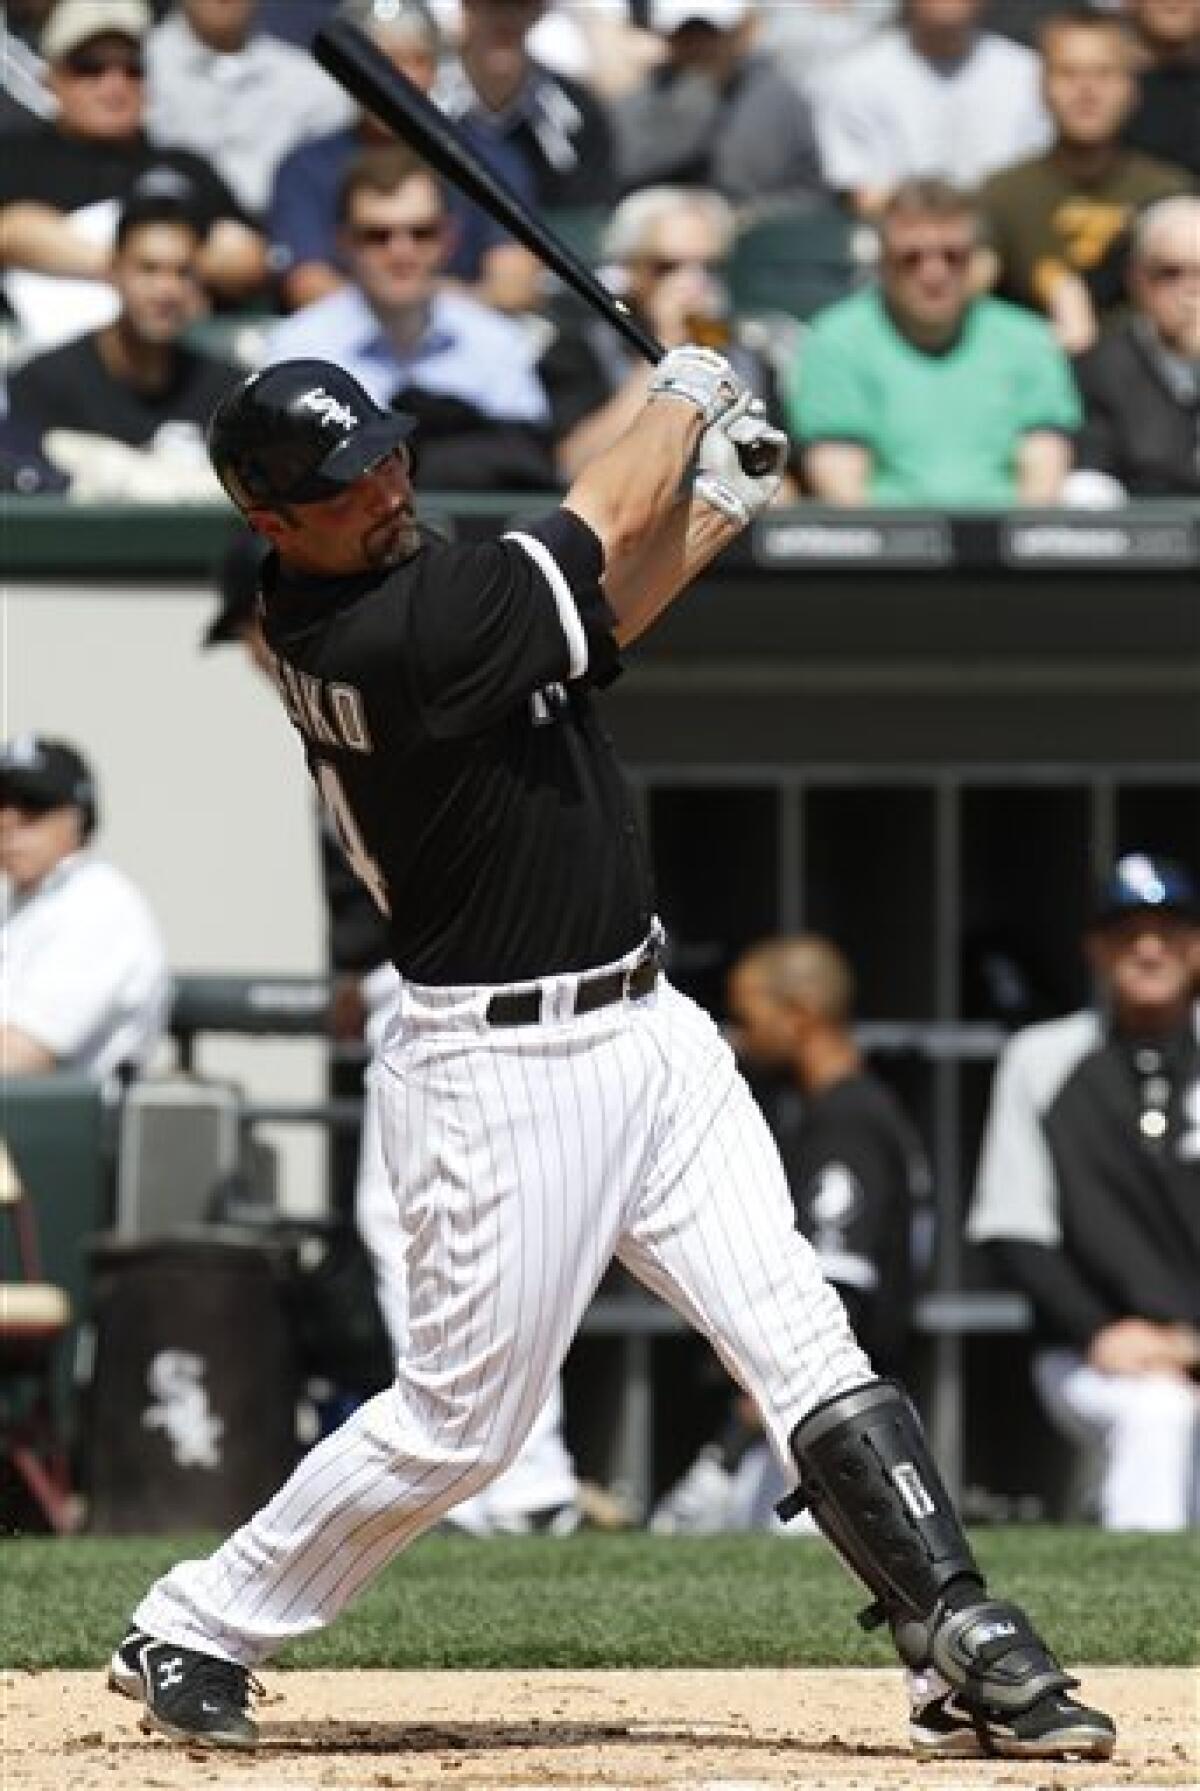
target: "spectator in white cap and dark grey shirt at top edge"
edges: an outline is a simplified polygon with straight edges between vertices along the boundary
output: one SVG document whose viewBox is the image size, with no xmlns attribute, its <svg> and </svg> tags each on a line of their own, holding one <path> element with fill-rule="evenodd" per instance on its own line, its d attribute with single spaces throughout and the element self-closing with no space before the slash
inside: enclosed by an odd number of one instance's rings
<svg viewBox="0 0 1200 1791">
<path fill-rule="evenodd" d="M 820 188 L 808 100 L 754 48 L 747 0 L 652 0 L 657 68 L 613 107 L 621 190 L 711 186 L 734 204 Z"/>
</svg>

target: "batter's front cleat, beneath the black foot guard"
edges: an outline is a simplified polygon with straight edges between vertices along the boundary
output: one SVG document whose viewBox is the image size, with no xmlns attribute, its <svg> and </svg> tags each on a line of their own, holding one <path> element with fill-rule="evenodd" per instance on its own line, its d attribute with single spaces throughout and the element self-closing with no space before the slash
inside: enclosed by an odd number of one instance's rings
<svg viewBox="0 0 1200 1791">
<path fill-rule="evenodd" d="M 1116 1744 L 1112 1719 L 1060 1691 L 1028 1710 L 973 1710 L 956 1691 L 912 1710 L 908 1739 L 922 1761 L 1107 1761 Z"/>
</svg>

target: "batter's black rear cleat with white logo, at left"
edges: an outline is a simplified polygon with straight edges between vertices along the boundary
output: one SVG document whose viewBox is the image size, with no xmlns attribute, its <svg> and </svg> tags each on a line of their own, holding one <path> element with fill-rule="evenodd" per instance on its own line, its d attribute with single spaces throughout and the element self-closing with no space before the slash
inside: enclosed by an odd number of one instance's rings
<svg viewBox="0 0 1200 1791">
<path fill-rule="evenodd" d="M 143 1728 L 172 1741 L 199 1748 L 253 1748 L 258 1741 L 245 1707 L 261 1685 L 233 1660 L 133 1628 L 109 1660 L 107 1684 L 145 1705 Z"/>
</svg>

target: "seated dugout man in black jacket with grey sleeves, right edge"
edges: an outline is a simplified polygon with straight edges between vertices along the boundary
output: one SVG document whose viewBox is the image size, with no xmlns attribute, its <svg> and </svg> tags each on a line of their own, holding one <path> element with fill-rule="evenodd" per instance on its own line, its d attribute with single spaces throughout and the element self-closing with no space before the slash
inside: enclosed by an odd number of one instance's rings
<svg viewBox="0 0 1200 1791">
<path fill-rule="evenodd" d="M 1200 1522 L 1200 903 L 1118 861 L 1085 938 L 1096 1007 L 1008 1042 L 969 1220 L 1035 1309 L 1042 1401 L 1101 1458 L 1109 1530 Z"/>
</svg>

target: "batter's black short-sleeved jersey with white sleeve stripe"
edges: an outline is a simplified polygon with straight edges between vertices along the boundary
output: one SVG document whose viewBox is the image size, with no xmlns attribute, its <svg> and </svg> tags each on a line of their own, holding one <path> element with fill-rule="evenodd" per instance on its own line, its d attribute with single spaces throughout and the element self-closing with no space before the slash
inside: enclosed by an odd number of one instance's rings
<svg viewBox="0 0 1200 1791">
<path fill-rule="evenodd" d="M 591 688 L 618 672 L 602 546 L 555 510 L 389 571 L 265 568 L 276 681 L 346 856 L 421 983 L 605 964 L 652 922 Z"/>
</svg>

